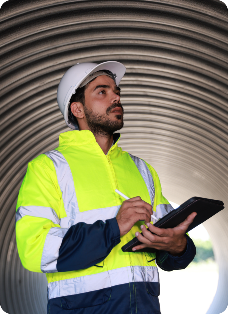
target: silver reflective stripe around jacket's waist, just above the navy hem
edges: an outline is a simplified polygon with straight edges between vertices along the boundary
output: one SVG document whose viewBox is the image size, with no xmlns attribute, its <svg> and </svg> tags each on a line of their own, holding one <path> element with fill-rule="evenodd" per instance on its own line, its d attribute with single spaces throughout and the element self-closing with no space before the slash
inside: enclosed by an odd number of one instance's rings
<svg viewBox="0 0 228 314">
<path fill-rule="evenodd" d="M 155 266 L 128 266 L 88 276 L 60 280 L 48 284 L 48 298 L 99 290 L 129 282 L 159 282 Z"/>
</svg>

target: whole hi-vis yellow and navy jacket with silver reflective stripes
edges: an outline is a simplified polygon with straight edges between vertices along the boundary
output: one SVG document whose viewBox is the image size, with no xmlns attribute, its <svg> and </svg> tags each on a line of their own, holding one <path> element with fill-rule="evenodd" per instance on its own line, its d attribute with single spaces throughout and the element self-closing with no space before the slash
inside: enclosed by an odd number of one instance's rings
<svg viewBox="0 0 228 314">
<path fill-rule="evenodd" d="M 18 253 L 25 268 L 48 279 L 48 313 L 160 313 L 157 264 L 185 268 L 195 256 L 188 236 L 182 257 L 168 252 L 124 253 L 141 231 L 120 238 L 116 214 L 140 196 L 161 218 L 172 210 L 155 170 L 117 146 L 107 155 L 88 130 L 60 134 L 57 149 L 28 164 L 16 211 Z"/>
</svg>

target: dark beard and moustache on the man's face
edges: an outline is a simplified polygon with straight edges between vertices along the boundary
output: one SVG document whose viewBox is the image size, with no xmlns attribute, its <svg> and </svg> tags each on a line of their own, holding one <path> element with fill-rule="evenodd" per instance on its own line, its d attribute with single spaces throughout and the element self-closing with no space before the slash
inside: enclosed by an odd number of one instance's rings
<svg viewBox="0 0 228 314">
<path fill-rule="evenodd" d="M 121 104 L 114 103 L 109 108 L 107 108 L 105 114 L 95 113 L 93 110 L 88 109 L 84 106 L 84 114 L 87 119 L 89 130 L 94 135 L 99 135 L 103 137 L 109 137 L 114 132 L 122 129 L 124 122 L 122 120 L 122 115 L 116 115 L 117 120 L 113 121 L 109 119 L 110 111 L 116 107 L 121 107 L 124 114 L 124 108 Z"/>
</svg>

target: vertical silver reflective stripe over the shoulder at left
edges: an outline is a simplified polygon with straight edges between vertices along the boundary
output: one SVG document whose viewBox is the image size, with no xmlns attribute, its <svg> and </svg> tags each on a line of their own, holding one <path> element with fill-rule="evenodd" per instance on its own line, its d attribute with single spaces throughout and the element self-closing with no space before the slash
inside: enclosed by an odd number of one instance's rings
<svg viewBox="0 0 228 314">
<path fill-rule="evenodd" d="M 58 184 L 62 192 L 63 203 L 68 217 L 79 213 L 79 206 L 74 189 L 73 176 L 68 162 L 58 150 L 44 153 L 54 163 Z"/>
</svg>

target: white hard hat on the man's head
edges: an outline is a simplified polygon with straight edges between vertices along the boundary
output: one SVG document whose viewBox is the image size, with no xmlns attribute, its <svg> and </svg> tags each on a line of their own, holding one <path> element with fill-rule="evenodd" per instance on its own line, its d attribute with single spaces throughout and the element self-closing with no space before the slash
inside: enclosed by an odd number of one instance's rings
<svg viewBox="0 0 228 314">
<path fill-rule="evenodd" d="M 68 118 L 68 107 L 71 96 L 75 94 L 75 90 L 89 75 L 101 70 L 110 71 L 110 76 L 118 86 L 126 68 L 122 63 L 117 61 L 107 61 L 100 64 L 93 62 L 77 63 L 67 70 L 59 82 L 57 90 L 58 106 L 66 124 L 73 130 L 78 130 L 78 126 L 76 123 L 72 124 Z"/>
</svg>

